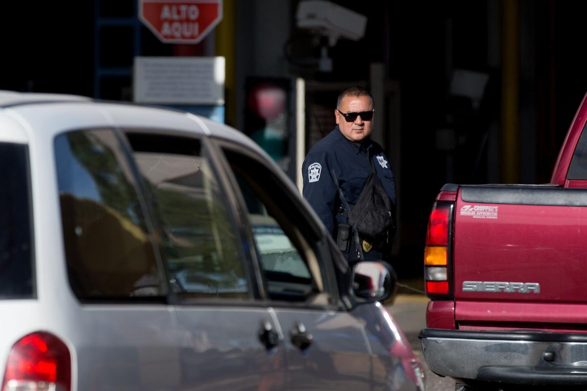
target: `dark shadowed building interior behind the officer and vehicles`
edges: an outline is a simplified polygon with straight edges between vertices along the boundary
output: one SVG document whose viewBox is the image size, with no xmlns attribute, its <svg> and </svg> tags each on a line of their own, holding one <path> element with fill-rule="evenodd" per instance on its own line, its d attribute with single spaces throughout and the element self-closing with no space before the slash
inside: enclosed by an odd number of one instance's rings
<svg viewBox="0 0 587 391">
<path fill-rule="evenodd" d="M 306 131 L 323 132 L 333 126 L 338 91 L 356 83 L 376 87 L 373 69 L 381 69 L 387 87 L 376 102 L 380 140 L 388 156 L 400 151 L 393 166 L 401 211 L 394 267 L 416 276 L 427 217 L 443 184 L 549 182 L 587 91 L 577 45 L 586 5 L 335 2 L 367 17 L 363 38 L 328 46 L 296 25 L 298 0 L 225 0 L 217 30 L 229 35 L 213 32 L 190 46 L 160 42 L 138 20 L 138 0 L 12 2 L 0 26 L 0 89 L 132 100 L 134 56 L 225 55 L 217 48 L 228 42 L 234 48 L 226 55 L 227 80 L 231 72 L 234 81 L 227 82 L 225 122 L 252 134 L 252 78 L 287 85 L 301 77 L 308 86 Z M 323 48 L 331 70 L 321 69 Z M 390 105 L 397 110 L 386 115 Z M 306 136 L 306 149 L 312 140 Z"/>
</svg>

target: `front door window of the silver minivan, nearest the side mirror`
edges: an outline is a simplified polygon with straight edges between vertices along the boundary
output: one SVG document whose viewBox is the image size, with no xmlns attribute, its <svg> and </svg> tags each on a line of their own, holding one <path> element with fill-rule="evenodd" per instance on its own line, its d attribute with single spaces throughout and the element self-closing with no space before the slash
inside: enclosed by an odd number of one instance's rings
<svg viewBox="0 0 587 391">
<path fill-rule="evenodd" d="M 269 298 L 332 301 L 316 254 L 318 236 L 281 179 L 261 161 L 223 149 L 247 208 Z"/>
</svg>

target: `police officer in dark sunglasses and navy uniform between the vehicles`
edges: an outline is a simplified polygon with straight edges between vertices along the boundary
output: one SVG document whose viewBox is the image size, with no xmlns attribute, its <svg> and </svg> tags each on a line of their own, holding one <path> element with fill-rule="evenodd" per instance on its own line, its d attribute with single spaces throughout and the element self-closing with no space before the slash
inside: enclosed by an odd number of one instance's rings
<svg viewBox="0 0 587 391">
<path fill-rule="evenodd" d="M 393 233 L 382 232 L 376 238 L 358 237 L 356 230 L 349 227 L 348 218 L 348 209 L 359 200 L 373 172 L 379 177 L 393 211 L 396 207 L 389 159 L 382 147 L 370 139 L 375 114 L 373 97 L 362 87 L 350 87 L 340 93 L 334 114 L 338 125 L 312 147 L 303 161 L 303 197 L 349 261 L 386 260 Z"/>
</svg>

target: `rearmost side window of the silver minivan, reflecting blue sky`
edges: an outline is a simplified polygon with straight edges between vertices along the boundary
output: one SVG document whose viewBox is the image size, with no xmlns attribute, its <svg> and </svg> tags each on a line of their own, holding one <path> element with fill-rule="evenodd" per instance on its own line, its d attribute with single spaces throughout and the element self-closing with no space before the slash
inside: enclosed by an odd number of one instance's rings
<svg viewBox="0 0 587 391">
<path fill-rule="evenodd" d="M 82 299 L 165 294 L 137 186 L 113 130 L 55 139 L 63 240 L 73 291 Z"/>
</svg>

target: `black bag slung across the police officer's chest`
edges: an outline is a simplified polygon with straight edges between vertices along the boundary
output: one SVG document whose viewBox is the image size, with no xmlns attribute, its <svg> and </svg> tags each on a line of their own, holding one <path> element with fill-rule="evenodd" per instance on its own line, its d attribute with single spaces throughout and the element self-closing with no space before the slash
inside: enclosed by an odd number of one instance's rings
<svg viewBox="0 0 587 391">
<path fill-rule="evenodd" d="M 394 230 L 394 210 L 379 176 L 375 172 L 367 179 L 363 191 L 350 211 L 349 224 L 361 237 L 380 238 Z"/>
</svg>

